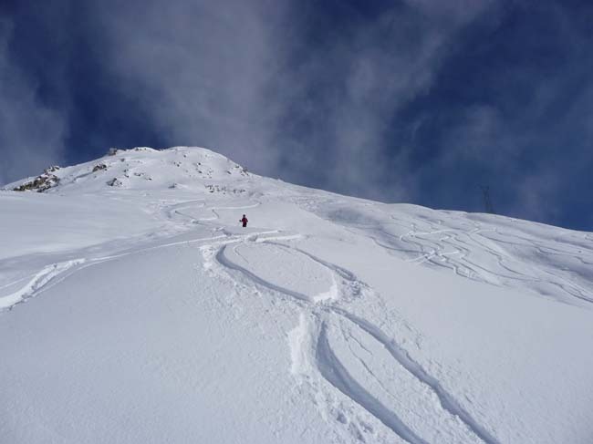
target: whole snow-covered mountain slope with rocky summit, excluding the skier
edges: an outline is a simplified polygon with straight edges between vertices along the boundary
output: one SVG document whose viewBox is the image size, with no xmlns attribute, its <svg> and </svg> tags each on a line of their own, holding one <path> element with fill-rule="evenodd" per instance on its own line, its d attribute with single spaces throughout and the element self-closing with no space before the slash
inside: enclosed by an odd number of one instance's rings
<svg viewBox="0 0 593 444">
<path fill-rule="evenodd" d="M 593 442 L 593 233 L 186 147 L 4 188 L 2 443 Z"/>
</svg>

